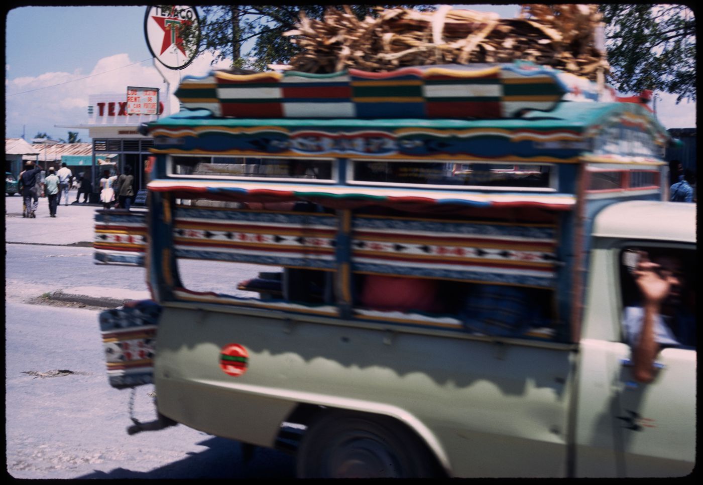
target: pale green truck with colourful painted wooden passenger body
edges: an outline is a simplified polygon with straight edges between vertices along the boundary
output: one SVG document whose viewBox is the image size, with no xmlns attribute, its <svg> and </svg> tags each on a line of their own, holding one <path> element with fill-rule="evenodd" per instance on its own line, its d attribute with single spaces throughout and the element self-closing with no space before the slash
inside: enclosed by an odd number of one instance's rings
<svg viewBox="0 0 703 485">
<path fill-rule="evenodd" d="M 96 262 L 153 294 L 101 314 L 110 384 L 155 385 L 129 432 L 278 447 L 300 477 L 690 473 L 695 347 L 638 382 L 621 314 L 632 250 L 695 278 L 695 205 L 663 201 L 646 109 L 567 91 L 534 65 L 184 79 L 146 126 L 148 212 L 96 213 Z M 262 272 L 224 282 L 238 263 Z"/>
</svg>

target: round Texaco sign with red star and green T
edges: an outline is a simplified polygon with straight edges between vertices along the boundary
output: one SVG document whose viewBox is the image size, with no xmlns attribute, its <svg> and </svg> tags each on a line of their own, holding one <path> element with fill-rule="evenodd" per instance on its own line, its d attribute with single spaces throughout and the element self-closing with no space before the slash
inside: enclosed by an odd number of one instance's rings
<svg viewBox="0 0 703 485">
<path fill-rule="evenodd" d="M 198 25 L 198 12 L 188 6 L 153 6 L 146 8 L 144 35 L 152 55 L 169 69 L 183 69 L 193 62 L 198 49 L 189 48 L 179 35 L 183 24 Z"/>
</svg>

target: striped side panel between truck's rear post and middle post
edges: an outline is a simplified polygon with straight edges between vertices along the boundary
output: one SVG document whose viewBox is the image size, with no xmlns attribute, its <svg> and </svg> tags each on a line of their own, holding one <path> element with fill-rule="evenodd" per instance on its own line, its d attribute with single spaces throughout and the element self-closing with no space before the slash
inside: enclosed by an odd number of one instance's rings
<svg viewBox="0 0 703 485">
<path fill-rule="evenodd" d="M 177 258 L 333 270 L 336 233 L 330 215 L 181 206 L 174 248 Z"/>
</svg>

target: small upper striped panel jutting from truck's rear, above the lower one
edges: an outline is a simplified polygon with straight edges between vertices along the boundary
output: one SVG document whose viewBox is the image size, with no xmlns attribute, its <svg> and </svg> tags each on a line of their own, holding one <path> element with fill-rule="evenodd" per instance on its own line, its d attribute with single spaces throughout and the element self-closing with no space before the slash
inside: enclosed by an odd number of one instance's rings
<svg viewBox="0 0 703 485">
<path fill-rule="evenodd" d="M 96 211 L 96 263 L 143 266 L 147 240 L 146 212 Z"/>
</svg>

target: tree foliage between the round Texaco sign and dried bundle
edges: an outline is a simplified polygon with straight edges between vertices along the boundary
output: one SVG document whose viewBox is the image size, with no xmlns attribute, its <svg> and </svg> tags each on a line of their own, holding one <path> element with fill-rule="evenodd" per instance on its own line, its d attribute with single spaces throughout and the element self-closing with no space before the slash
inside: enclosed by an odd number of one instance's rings
<svg viewBox="0 0 703 485">
<path fill-rule="evenodd" d="M 386 8 L 398 5 L 387 5 Z M 342 9 L 341 5 L 335 6 Z M 304 11 L 311 19 L 321 19 L 325 5 L 238 5 L 202 6 L 200 18 L 200 49 L 211 51 L 217 60 L 232 60 L 232 67 L 264 70 L 269 64 L 286 63 L 300 51 L 282 34 L 292 30 L 299 22 L 299 12 Z M 352 5 L 352 11 L 359 19 L 366 15 L 378 17 L 373 5 Z M 434 7 L 413 5 L 418 10 L 432 10 Z M 183 26 L 181 37 L 186 45 L 198 42 L 193 29 Z M 250 39 L 254 46 L 247 53 L 241 46 Z"/>
</svg>

